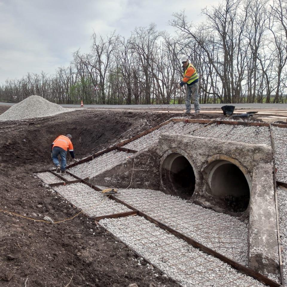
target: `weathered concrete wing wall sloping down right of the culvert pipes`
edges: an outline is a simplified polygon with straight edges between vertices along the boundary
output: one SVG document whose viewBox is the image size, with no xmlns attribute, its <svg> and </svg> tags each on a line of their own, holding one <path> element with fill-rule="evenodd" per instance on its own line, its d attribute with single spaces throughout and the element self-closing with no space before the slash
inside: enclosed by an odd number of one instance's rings
<svg viewBox="0 0 287 287">
<path fill-rule="evenodd" d="M 248 233 L 249 267 L 262 274 L 278 273 L 279 251 L 271 164 L 259 163 L 254 167 Z"/>
</svg>

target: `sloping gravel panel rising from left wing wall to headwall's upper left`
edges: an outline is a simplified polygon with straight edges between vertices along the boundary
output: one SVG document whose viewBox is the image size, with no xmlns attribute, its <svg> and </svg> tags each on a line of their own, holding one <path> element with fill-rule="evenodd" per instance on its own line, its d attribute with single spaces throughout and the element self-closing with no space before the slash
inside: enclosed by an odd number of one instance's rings
<svg viewBox="0 0 287 287">
<path fill-rule="evenodd" d="M 185 134 L 201 126 L 203 126 L 203 124 L 200 123 L 171 122 L 135 141 L 130 142 L 129 144 L 124 145 L 123 147 L 134 150 L 144 149 L 147 146 L 157 143 L 158 138 L 162 133 Z"/>
</svg>

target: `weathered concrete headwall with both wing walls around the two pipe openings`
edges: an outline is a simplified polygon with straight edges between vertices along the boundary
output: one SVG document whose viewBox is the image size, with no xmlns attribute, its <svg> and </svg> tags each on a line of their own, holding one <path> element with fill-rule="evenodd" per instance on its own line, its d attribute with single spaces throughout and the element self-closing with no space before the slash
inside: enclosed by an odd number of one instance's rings
<svg viewBox="0 0 287 287">
<path fill-rule="evenodd" d="M 279 257 L 272 150 L 268 145 L 163 134 L 157 145 L 139 151 L 121 164 L 97 175 L 91 182 L 121 188 L 131 183 L 132 188 L 160 189 L 170 194 L 171 190 L 160 179 L 164 162 L 172 153 L 180 153 L 193 167 L 196 184 L 190 200 L 218 212 L 232 214 L 222 207 L 222 199 L 212 193 L 210 166 L 215 161 L 228 161 L 239 168 L 245 175 L 251 195 L 249 207 L 242 216 L 249 216 L 250 222 L 249 266 L 263 274 L 277 274 Z"/>
</svg>

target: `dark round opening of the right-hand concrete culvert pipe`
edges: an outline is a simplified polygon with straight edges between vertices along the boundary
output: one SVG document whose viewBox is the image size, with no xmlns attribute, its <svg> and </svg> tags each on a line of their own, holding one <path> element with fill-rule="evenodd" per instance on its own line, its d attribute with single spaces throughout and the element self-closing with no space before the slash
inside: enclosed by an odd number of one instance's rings
<svg viewBox="0 0 287 287">
<path fill-rule="evenodd" d="M 230 161 L 213 161 L 206 170 L 211 195 L 223 199 L 226 208 L 243 212 L 250 201 L 250 185 L 246 176 Z"/>
</svg>

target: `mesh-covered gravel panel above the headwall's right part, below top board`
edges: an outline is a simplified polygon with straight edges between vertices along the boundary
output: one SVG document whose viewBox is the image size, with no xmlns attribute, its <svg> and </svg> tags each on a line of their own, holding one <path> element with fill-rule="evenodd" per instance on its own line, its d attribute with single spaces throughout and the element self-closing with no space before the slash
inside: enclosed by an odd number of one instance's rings
<svg viewBox="0 0 287 287">
<path fill-rule="evenodd" d="M 211 124 L 208 129 L 195 131 L 194 136 L 218 138 L 225 141 L 240 141 L 246 144 L 271 145 L 271 135 L 267 126 L 236 126 Z"/>
</svg>

